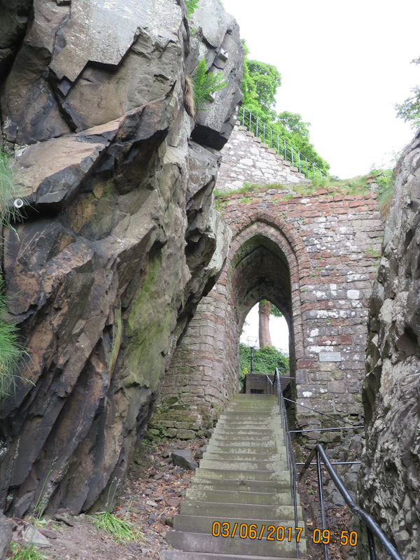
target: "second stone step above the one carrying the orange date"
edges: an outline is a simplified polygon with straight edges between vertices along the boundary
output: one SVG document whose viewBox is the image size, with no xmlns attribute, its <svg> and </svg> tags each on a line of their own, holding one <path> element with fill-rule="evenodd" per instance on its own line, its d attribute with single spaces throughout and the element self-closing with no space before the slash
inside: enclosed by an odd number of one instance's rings
<svg viewBox="0 0 420 560">
<path fill-rule="evenodd" d="M 282 493 L 246 492 L 241 490 L 211 490 L 194 486 L 194 488 L 188 488 L 186 499 L 223 504 L 291 505 L 290 491 Z"/>
</svg>

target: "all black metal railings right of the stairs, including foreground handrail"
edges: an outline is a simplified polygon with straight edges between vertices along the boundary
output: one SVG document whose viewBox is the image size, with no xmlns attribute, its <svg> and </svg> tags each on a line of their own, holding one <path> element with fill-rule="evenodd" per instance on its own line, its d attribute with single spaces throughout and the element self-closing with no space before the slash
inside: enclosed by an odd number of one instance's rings
<svg viewBox="0 0 420 560">
<path fill-rule="evenodd" d="M 376 548 L 374 538 L 377 538 L 378 542 L 381 544 L 381 547 L 386 551 L 389 555 L 391 560 L 402 560 L 400 554 L 398 554 L 397 550 L 391 542 L 388 540 L 386 535 L 381 531 L 381 528 L 377 525 L 372 517 L 367 514 L 361 507 L 356 505 L 353 498 L 351 498 L 349 492 L 346 490 L 344 484 L 339 479 L 337 473 L 334 470 L 332 465 L 356 465 L 360 464 L 360 461 L 337 461 L 335 463 L 331 463 L 328 457 L 325 454 L 325 450 L 321 444 L 316 444 L 314 449 L 312 449 L 307 461 L 305 463 L 296 463 L 295 461 L 295 454 L 293 453 L 293 446 L 292 440 L 290 437 L 290 433 L 303 433 L 303 432 L 311 432 L 311 431 L 330 431 L 330 430 L 356 430 L 358 428 L 363 428 L 364 426 L 340 426 L 339 428 L 320 428 L 318 430 L 293 430 L 290 431 L 288 429 L 288 420 L 287 420 L 287 412 L 286 412 L 286 400 L 290 402 L 295 402 L 290 399 L 286 399 L 283 397 L 283 391 L 281 391 L 281 383 L 280 383 L 280 376 L 279 370 L 276 367 L 275 375 L 274 375 L 274 382 L 269 379 L 268 375 L 266 376 L 269 380 L 270 384 L 272 385 L 273 392 L 279 395 L 279 414 L 281 416 L 281 423 L 283 427 L 283 441 L 286 447 L 286 460 L 287 460 L 287 467 L 290 472 L 290 488 L 291 488 L 291 498 L 292 498 L 292 505 L 294 506 L 295 510 L 295 527 L 297 527 L 297 482 L 302 479 L 304 472 L 310 465 L 316 465 L 317 474 L 318 474 L 318 493 L 319 493 L 319 502 L 321 505 L 321 524 L 322 530 L 324 531 L 326 527 L 326 518 L 325 518 L 325 508 L 324 508 L 324 500 L 323 500 L 323 483 L 322 483 L 322 472 L 321 472 L 321 459 L 323 461 L 323 465 L 325 466 L 328 474 L 330 475 L 332 482 L 334 482 L 337 490 L 344 498 L 344 502 L 349 506 L 350 510 L 356 514 L 362 521 L 364 521 L 366 530 L 367 530 L 367 542 L 369 547 L 369 554 L 370 560 L 377 560 L 376 555 Z M 295 404 L 300 404 L 295 402 Z M 309 408 L 310 407 L 306 407 Z M 318 410 L 313 410 L 313 412 L 317 412 L 318 414 L 323 414 Z M 330 416 L 329 414 L 323 414 L 325 416 Z M 334 416 L 330 416 L 337 421 L 341 421 L 340 419 L 335 418 Z M 316 463 L 312 463 L 312 459 L 316 456 Z M 297 475 L 297 465 L 303 465 L 302 470 L 300 471 L 299 475 Z M 328 548 L 327 545 L 323 543 L 324 549 L 324 558 L 325 560 L 329 560 L 328 558 Z M 296 540 L 296 557 L 300 558 L 299 555 L 299 542 Z"/>
</svg>

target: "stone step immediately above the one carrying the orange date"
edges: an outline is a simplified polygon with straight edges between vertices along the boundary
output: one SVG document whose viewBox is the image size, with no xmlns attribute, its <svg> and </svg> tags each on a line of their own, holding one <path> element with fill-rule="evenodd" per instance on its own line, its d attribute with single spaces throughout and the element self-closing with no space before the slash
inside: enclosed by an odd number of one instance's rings
<svg viewBox="0 0 420 560">
<path fill-rule="evenodd" d="M 202 517 L 235 517 L 238 514 L 237 503 L 200 502 L 182 500 L 181 514 L 200 515 Z M 255 505 L 241 504 L 243 519 L 295 519 L 295 508 L 292 505 Z M 302 519 L 302 507 L 297 506 L 297 518 Z"/>
</svg>

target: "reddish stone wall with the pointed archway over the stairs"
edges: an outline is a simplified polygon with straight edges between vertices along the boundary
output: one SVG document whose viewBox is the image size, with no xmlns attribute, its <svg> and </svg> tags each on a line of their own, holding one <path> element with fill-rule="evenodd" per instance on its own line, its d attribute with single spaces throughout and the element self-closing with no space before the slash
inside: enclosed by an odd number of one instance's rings
<svg viewBox="0 0 420 560">
<path fill-rule="evenodd" d="M 192 405 L 197 426 L 211 424 L 239 389 L 246 314 L 267 298 L 288 321 L 298 402 L 360 423 L 367 309 L 383 234 L 376 195 L 318 189 L 303 197 L 262 188 L 227 196 L 222 206 L 233 235 L 228 261 L 176 350 L 162 386 L 165 414 L 173 403 Z M 303 407 L 297 419 L 313 428 L 329 423 Z"/>
</svg>

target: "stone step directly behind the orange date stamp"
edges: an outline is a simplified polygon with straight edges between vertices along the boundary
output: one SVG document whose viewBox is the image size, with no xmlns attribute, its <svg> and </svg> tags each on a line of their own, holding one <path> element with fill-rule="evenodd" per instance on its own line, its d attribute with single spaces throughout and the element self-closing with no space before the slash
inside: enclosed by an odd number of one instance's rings
<svg viewBox="0 0 420 560">
<path fill-rule="evenodd" d="M 220 517 L 215 519 L 214 517 L 198 517 L 197 515 L 176 515 L 174 517 L 174 529 L 176 531 L 191 531 L 193 533 L 207 533 L 211 535 L 215 521 L 218 521 L 221 524 L 228 523 L 230 528 L 235 527 L 235 523 L 237 523 L 238 535 L 240 534 L 239 531 L 241 531 L 242 524 L 247 525 L 248 530 L 250 525 L 256 525 L 257 528 L 255 531 L 257 531 L 258 537 L 261 535 L 261 538 L 267 538 L 269 526 L 274 526 L 276 528 L 279 526 L 284 527 L 286 538 L 288 538 L 288 531 L 286 530 L 288 527 L 291 527 L 292 538 L 295 535 L 295 521 L 292 521 L 291 519 L 253 519 L 252 523 L 250 523 L 249 519 L 241 519 L 238 517 Z M 300 527 L 303 528 L 301 533 L 303 536 L 305 533 L 304 524 L 300 524 Z M 242 528 L 241 534 L 248 534 L 246 528 Z M 279 536 L 281 537 L 281 535 Z"/>
</svg>

